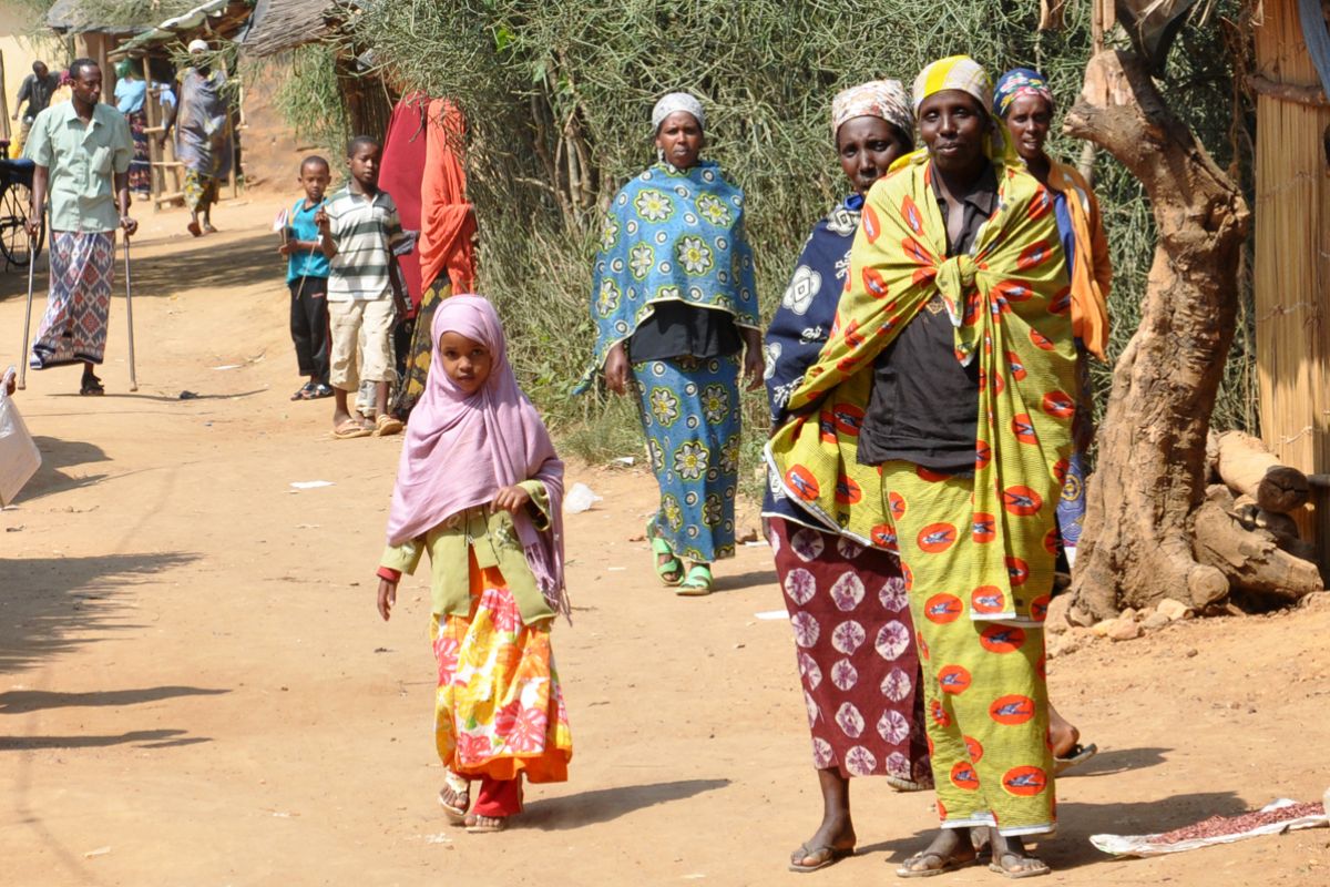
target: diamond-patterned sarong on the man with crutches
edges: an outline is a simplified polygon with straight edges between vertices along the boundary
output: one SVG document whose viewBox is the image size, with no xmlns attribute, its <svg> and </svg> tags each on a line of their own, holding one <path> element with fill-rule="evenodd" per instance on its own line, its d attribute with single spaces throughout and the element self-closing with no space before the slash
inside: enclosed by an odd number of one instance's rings
<svg viewBox="0 0 1330 887">
<path fill-rule="evenodd" d="M 113 231 L 51 233 L 51 295 L 28 356 L 29 367 L 101 363 L 114 269 Z"/>
</svg>

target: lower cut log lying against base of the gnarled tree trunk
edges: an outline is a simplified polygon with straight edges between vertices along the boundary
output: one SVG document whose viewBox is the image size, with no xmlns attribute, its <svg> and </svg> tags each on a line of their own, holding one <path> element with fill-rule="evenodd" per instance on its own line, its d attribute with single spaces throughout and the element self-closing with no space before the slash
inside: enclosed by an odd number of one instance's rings
<svg viewBox="0 0 1330 887">
<path fill-rule="evenodd" d="M 1282 551 L 1269 531 L 1242 529 L 1221 503 L 1205 501 L 1193 521 L 1196 560 L 1218 569 L 1233 586 L 1283 601 L 1325 590 L 1315 564 Z"/>
</svg>

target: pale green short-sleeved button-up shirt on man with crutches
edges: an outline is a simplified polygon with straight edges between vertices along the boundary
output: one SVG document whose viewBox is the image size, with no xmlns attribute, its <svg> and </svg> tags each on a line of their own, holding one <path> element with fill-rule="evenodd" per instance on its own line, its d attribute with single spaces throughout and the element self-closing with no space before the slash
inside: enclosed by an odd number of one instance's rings
<svg viewBox="0 0 1330 887">
<path fill-rule="evenodd" d="M 84 124 L 72 101 L 47 108 L 32 121 L 23 154 L 51 170 L 51 230 L 116 230 L 114 174 L 128 173 L 134 156 L 124 114 L 98 102 Z"/>
</svg>

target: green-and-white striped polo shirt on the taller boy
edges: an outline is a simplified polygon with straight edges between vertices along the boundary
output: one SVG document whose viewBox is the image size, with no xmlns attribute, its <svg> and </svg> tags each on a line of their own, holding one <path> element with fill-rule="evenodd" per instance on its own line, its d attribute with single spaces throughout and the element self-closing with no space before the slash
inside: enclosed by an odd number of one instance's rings
<svg viewBox="0 0 1330 887">
<path fill-rule="evenodd" d="M 329 275 L 329 302 L 355 302 L 382 299 L 392 290 L 388 285 L 388 255 L 406 237 L 398 206 L 387 191 L 367 197 L 351 190 L 350 185 L 327 198 L 323 205 L 329 215 L 336 255 Z"/>
</svg>

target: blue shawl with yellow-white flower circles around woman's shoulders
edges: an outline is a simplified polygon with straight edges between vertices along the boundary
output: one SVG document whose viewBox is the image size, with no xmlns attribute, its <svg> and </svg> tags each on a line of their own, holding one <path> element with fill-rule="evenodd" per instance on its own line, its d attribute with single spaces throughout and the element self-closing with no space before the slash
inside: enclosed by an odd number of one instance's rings
<svg viewBox="0 0 1330 887">
<path fill-rule="evenodd" d="M 614 194 L 592 282 L 596 350 L 576 394 L 609 350 L 650 317 L 657 302 L 728 311 L 759 326 L 753 250 L 743 234 L 743 191 L 713 161 L 681 170 L 653 164 Z"/>
</svg>

